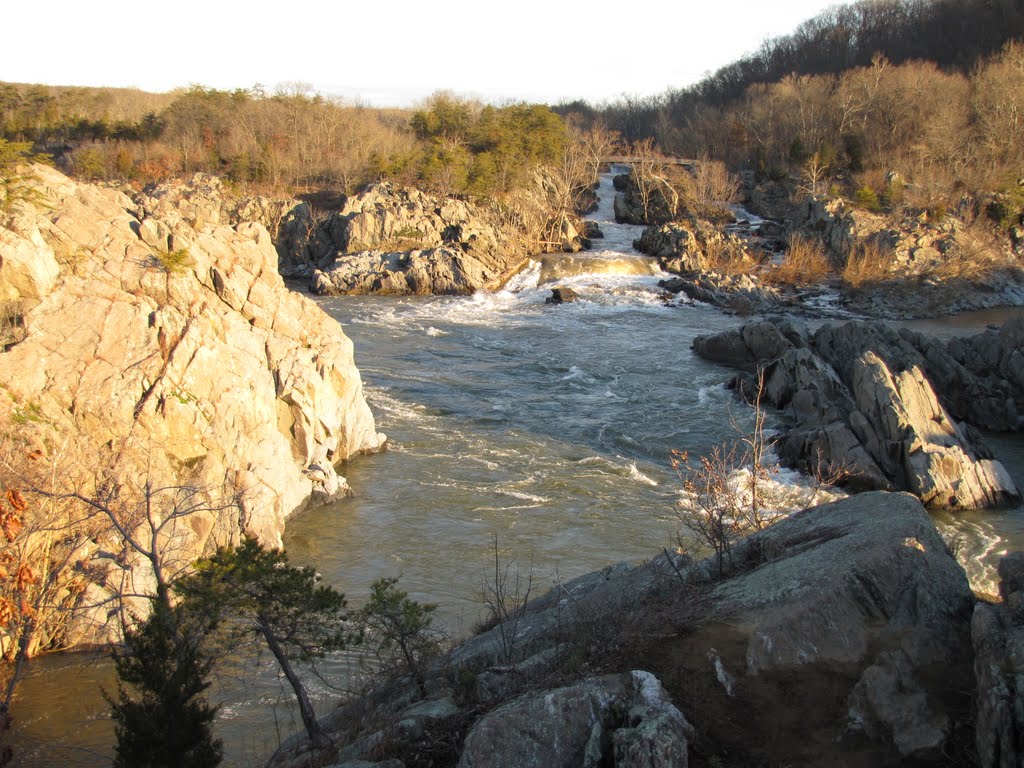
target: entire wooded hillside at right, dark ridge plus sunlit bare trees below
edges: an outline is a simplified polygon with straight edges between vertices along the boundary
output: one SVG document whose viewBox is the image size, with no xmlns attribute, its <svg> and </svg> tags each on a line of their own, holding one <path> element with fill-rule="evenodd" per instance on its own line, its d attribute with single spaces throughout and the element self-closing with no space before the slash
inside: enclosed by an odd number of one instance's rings
<svg viewBox="0 0 1024 768">
<path fill-rule="evenodd" d="M 689 88 L 559 109 L 867 210 L 970 217 L 967 194 L 1006 226 L 1024 210 L 1022 36 L 1022 0 L 863 0 Z"/>
</svg>

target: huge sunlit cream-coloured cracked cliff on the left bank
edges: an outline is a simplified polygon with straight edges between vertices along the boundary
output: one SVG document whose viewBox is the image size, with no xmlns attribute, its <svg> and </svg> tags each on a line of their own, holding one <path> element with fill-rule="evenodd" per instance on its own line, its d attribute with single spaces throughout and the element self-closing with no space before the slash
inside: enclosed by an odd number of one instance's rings
<svg viewBox="0 0 1024 768">
<path fill-rule="evenodd" d="M 206 221 L 194 209 L 216 206 L 187 194 L 138 203 L 44 167 L 32 185 L 39 202 L 0 227 L 0 282 L 18 285 L 11 252 L 59 275 L 20 294 L 34 306 L 0 354 L 0 422 L 74 443 L 69 480 L 117 459 L 135 485 L 229 488 L 240 506 L 190 521 L 183 556 L 240 529 L 280 544 L 288 515 L 346 492 L 336 466 L 384 438 L 351 341 L 285 287 L 264 226 Z"/>
</svg>

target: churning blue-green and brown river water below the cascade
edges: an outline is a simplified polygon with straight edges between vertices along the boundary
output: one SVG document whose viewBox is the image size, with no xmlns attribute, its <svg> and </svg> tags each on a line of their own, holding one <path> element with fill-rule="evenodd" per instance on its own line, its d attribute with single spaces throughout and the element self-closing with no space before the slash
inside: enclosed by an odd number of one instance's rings
<svg viewBox="0 0 1024 768">
<path fill-rule="evenodd" d="M 398 575 L 459 636 L 481 616 L 495 536 L 503 557 L 532 571 L 535 593 L 650 557 L 673 545 L 678 525 L 670 451 L 703 454 L 749 429 L 749 410 L 723 385 L 729 372 L 690 350 L 694 336 L 740 321 L 666 298 L 657 281 L 667 275 L 633 251 L 640 228 L 611 221 L 610 178 L 599 194 L 599 250 L 542 258 L 501 292 L 322 301 L 355 343 L 389 444 L 345 467 L 352 498 L 293 518 L 285 538 L 293 562 L 315 565 L 350 603 L 375 579 Z M 546 304 L 556 286 L 581 300 Z M 1021 440 L 993 447 L 1024 485 Z M 784 471 L 776 479 L 796 481 Z M 940 522 L 963 539 L 979 583 L 998 553 L 1024 546 L 1022 509 Z M 328 679 L 343 680 L 348 660 L 327 665 Z M 258 763 L 300 727 L 267 659 L 260 670 L 215 689 L 229 765 Z M 311 682 L 327 711 L 336 694 Z M 81 654 L 36 663 L 16 705 L 26 722 L 15 745 L 44 745 L 22 752 L 26 765 L 109 764 L 99 684 L 112 686 L 109 666 Z M 72 746 L 57 752 L 56 741 Z"/>
</svg>

